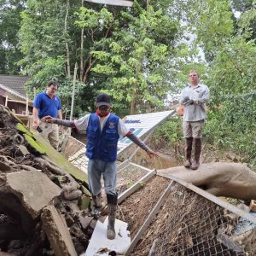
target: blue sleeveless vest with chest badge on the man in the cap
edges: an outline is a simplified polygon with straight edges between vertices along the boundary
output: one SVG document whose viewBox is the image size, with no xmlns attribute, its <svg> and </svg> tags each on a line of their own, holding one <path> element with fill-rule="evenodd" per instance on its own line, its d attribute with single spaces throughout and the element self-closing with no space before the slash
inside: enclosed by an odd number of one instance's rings
<svg viewBox="0 0 256 256">
<path fill-rule="evenodd" d="M 99 117 L 96 113 L 90 114 L 86 130 L 86 156 L 89 159 L 100 159 L 106 162 L 116 160 L 117 144 L 119 140 L 118 125 L 119 117 L 110 113 L 101 131 Z"/>
</svg>

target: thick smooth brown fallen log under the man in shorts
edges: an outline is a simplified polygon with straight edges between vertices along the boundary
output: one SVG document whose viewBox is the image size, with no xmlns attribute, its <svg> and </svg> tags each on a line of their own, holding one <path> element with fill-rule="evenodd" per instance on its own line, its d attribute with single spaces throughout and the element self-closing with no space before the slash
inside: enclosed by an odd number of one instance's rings
<svg viewBox="0 0 256 256">
<path fill-rule="evenodd" d="M 244 164 L 208 163 L 193 171 L 177 166 L 157 171 L 161 176 L 177 177 L 216 196 L 245 201 L 256 199 L 256 173 Z"/>
</svg>

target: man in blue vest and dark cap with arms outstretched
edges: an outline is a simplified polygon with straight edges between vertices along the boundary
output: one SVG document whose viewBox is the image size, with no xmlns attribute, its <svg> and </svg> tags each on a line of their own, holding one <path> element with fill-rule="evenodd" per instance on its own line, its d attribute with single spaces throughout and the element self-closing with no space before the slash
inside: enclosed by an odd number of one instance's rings
<svg viewBox="0 0 256 256">
<path fill-rule="evenodd" d="M 114 222 L 118 195 L 116 191 L 116 159 L 119 137 L 128 137 L 133 143 L 143 148 L 149 157 L 157 156 L 137 136 L 127 129 L 118 116 L 109 112 L 111 99 L 105 93 L 96 97 L 96 113 L 89 113 L 84 117 L 67 121 L 45 117 L 43 120 L 57 125 L 75 127 L 78 130 L 86 130 L 87 144 L 86 156 L 88 162 L 89 188 L 92 194 L 92 204 L 101 208 L 101 177 L 104 179 L 105 192 L 108 201 L 108 239 L 114 239 Z"/>
</svg>

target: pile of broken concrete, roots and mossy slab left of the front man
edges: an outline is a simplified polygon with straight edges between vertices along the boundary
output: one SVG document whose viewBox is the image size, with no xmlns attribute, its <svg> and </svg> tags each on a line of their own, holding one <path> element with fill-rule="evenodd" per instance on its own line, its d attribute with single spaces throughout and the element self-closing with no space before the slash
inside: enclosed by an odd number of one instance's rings
<svg viewBox="0 0 256 256">
<path fill-rule="evenodd" d="M 40 140 L 0 105 L 0 252 L 84 253 L 96 224 L 87 177 Z"/>
</svg>

